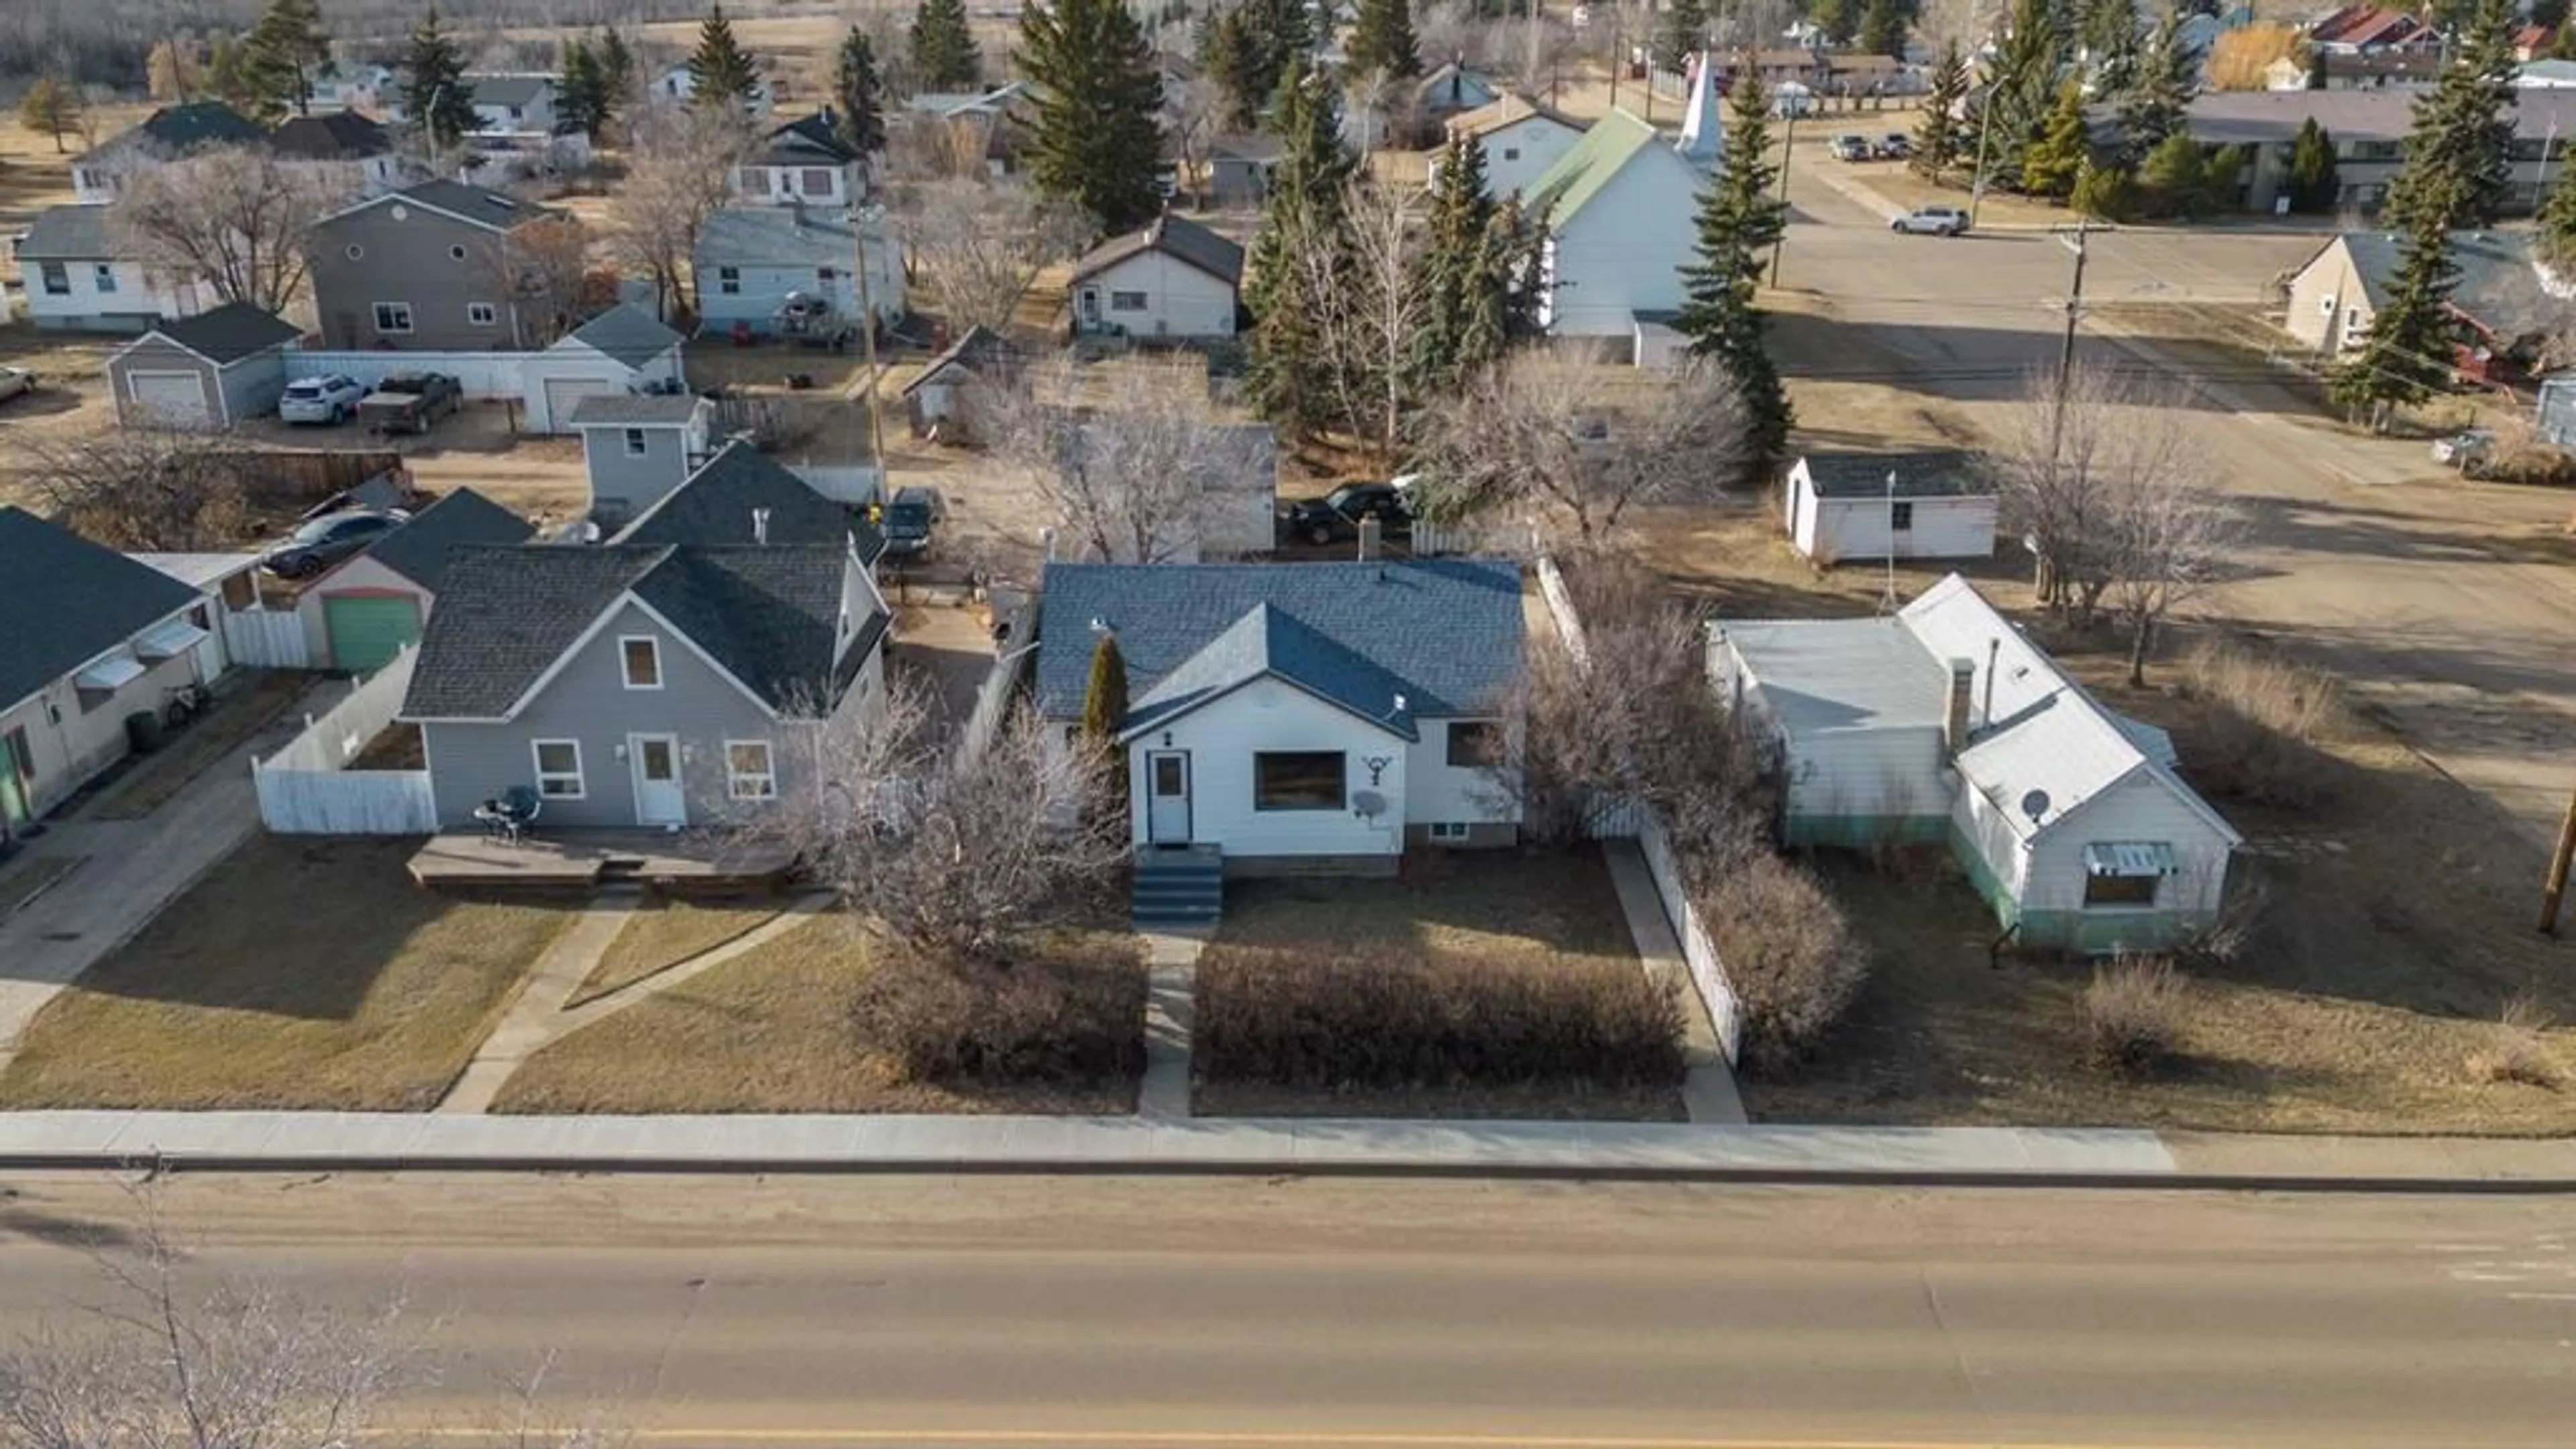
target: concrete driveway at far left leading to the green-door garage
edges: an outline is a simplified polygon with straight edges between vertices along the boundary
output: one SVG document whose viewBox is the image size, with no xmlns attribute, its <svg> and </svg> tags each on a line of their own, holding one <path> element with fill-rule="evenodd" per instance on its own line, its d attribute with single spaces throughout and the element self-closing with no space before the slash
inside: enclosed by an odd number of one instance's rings
<svg viewBox="0 0 2576 1449">
<path fill-rule="evenodd" d="M 319 691 L 319 694 L 317 694 Z M 142 820 L 64 820 L 26 843 L 31 856 L 80 859 L 80 869 L 0 920 L 0 1067 L 44 1003 L 142 931 L 260 825 L 250 755 L 304 730 L 304 712 L 337 704 L 348 686 L 314 681 L 296 704 L 216 755 Z"/>
</svg>

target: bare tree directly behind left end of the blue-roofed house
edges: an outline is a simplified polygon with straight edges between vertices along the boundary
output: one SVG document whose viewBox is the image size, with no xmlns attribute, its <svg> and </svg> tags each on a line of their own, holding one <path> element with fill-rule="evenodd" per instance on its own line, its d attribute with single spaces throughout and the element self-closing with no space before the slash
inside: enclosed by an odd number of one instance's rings
<svg viewBox="0 0 2576 1449">
<path fill-rule="evenodd" d="M 1141 358 L 1048 358 L 987 389 L 971 425 L 1046 495 L 1077 549 L 1110 562 L 1193 557 L 1208 490 L 1255 467 L 1247 431 L 1211 415 L 1195 369 Z"/>
</svg>

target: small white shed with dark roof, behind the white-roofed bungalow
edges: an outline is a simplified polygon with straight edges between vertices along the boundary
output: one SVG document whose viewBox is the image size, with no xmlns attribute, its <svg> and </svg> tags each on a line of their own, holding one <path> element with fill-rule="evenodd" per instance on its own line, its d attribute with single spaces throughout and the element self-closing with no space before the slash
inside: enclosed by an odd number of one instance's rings
<svg viewBox="0 0 2576 1449">
<path fill-rule="evenodd" d="M 1780 487 L 1798 552 L 1847 559 L 1989 559 L 1996 495 L 1971 454 L 1806 454 Z"/>
</svg>

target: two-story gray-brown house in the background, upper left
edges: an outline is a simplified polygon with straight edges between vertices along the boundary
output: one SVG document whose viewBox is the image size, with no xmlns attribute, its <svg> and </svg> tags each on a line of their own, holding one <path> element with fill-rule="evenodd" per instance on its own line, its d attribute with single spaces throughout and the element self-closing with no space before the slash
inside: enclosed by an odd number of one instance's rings
<svg viewBox="0 0 2576 1449">
<path fill-rule="evenodd" d="M 567 211 L 422 180 L 322 217 L 312 240 L 325 351 L 507 353 L 546 345 L 556 317 L 531 297 L 536 227 Z"/>
</svg>

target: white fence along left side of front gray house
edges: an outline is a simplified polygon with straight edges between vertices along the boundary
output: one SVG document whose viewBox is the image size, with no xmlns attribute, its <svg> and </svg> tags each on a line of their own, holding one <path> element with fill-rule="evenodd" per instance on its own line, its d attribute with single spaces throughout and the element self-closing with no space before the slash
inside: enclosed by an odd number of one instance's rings
<svg viewBox="0 0 2576 1449">
<path fill-rule="evenodd" d="M 410 645 L 276 755 L 250 761 L 260 822 L 278 835 L 428 835 L 438 828 L 430 771 L 350 771 L 412 688 Z"/>
</svg>

